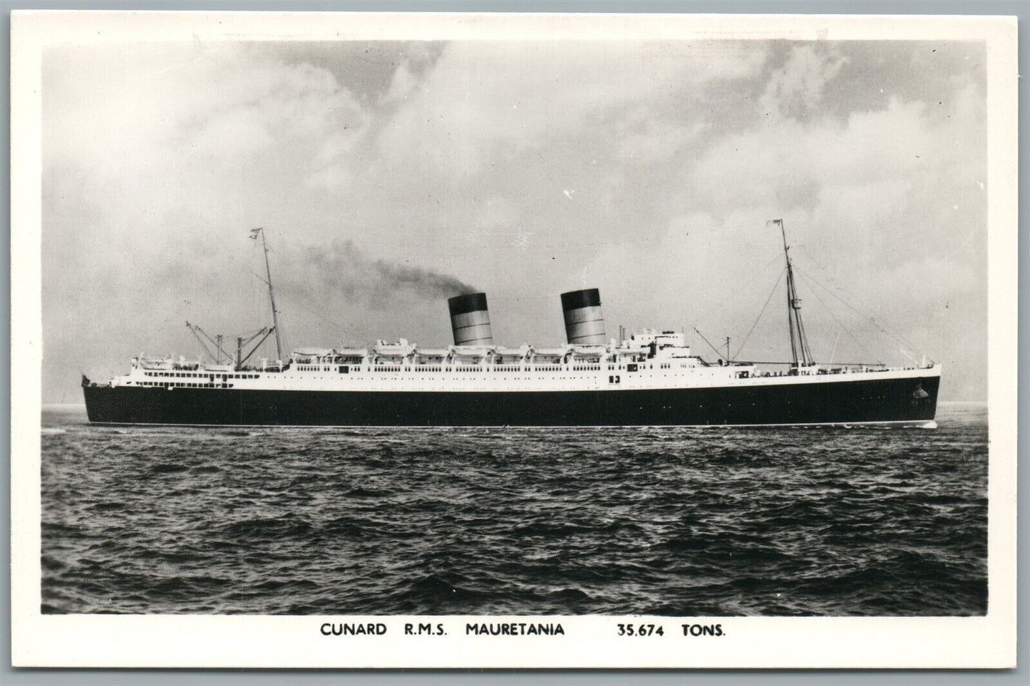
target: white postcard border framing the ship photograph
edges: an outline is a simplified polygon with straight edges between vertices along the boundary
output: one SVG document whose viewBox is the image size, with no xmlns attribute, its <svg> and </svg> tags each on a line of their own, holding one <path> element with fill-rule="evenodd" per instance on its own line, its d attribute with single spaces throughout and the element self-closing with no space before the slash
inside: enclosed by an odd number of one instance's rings
<svg viewBox="0 0 1030 686">
<path fill-rule="evenodd" d="M 41 108 L 46 45 L 140 40 L 968 39 L 988 44 L 989 610 L 969 618 L 268 617 L 40 614 Z M 1016 663 L 1015 18 L 679 14 L 14 12 L 11 16 L 11 659 L 16 666 L 1005 667 Z M 382 622 L 380 637 L 322 624 Z M 560 623 L 475 637 L 469 623 Z M 405 637 L 405 623 L 447 636 Z M 656 639 L 617 623 L 660 624 Z M 724 637 L 683 637 L 681 624 Z"/>
</svg>

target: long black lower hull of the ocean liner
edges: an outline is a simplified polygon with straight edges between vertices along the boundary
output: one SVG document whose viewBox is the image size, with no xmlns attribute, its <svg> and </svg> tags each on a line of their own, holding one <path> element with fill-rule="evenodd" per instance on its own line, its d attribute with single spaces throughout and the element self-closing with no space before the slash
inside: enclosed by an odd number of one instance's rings
<svg viewBox="0 0 1030 686">
<path fill-rule="evenodd" d="M 940 378 L 600 391 L 325 391 L 87 385 L 90 421 L 272 426 L 657 426 L 932 421 Z"/>
</svg>

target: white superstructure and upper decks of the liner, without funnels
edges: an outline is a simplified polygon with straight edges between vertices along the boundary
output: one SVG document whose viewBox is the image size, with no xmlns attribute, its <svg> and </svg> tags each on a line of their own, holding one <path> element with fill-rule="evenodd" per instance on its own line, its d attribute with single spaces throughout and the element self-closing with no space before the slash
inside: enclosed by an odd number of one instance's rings
<svg viewBox="0 0 1030 686">
<path fill-rule="evenodd" d="M 786 372 L 754 364 L 708 363 L 691 352 L 682 332 L 643 330 L 608 345 L 552 348 L 460 346 L 420 348 L 401 339 L 372 348 L 294 350 L 286 363 L 261 361 L 246 369 L 136 357 L 111 385 L 274 390 L 553 391 L 692 388 L 938 376 L 922 368 L 827 367 Z"/>
</svg>

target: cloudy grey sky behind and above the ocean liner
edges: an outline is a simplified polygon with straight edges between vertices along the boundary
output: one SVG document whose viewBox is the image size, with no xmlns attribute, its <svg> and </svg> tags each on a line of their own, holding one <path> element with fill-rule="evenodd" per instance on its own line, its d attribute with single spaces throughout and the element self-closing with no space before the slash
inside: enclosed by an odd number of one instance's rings
<svg viewBox="0 0 1030 686">
<path fill-rule="evenodd" d="M 138 42 L 44 53 L 43 400 L 185 322 L 288 347 L 607 331 L 790 357 L 783 218 L 818 362 L 987 395 L 986 59 L 939 41 Z M 695 332 L 696 330 L 696 332 Z M 264 351 L 274 357 L 274 348 Z"/>
</svg>

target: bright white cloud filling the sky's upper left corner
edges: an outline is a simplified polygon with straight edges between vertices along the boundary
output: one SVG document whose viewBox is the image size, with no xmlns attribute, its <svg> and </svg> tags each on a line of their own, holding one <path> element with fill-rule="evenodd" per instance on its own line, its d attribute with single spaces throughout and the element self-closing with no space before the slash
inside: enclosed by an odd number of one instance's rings
<svg viewBox="0 0 1030 686">
<path fill-rule="evenodd" d="M 139 44 L 47 56 L 46 172 L 75 173 L 136 247 L 203 241 L 349 179 L 368 113 L 325 69 L 239 47 Z"/>
</svg>

